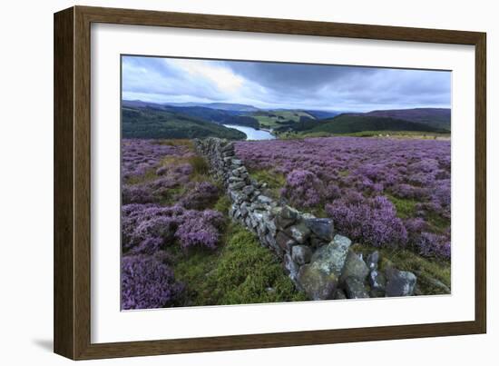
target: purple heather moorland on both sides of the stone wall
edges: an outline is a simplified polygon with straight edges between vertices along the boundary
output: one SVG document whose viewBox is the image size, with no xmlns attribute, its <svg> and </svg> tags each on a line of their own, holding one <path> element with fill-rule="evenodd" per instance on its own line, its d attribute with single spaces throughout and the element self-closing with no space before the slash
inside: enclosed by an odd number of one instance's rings
<svg viewBox="0 0 499 366">
<path fill-rule="evenodd" d="M 236 154 L 269 195 L 330 217 L 358 252 L 388 251 L 450 284 L 448 141 L 238 142 Z M 307 300 L 258 238 L 230 223 L 209 170 L 188 140 L 123 140 L 122 309 Z"/>
</svg>

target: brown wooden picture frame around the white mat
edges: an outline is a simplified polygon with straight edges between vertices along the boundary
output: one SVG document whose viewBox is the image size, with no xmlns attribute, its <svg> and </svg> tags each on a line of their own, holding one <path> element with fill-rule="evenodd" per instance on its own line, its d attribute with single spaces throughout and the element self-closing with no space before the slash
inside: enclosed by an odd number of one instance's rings
<svg viewBox="0 0 499 366">
<path fill-rule="evenodd" d="M 207 338 L 91 342 L 90 32 L 93 23 L 475 45 L 475 321 Z M 485 34 L 73 6 L 54 15 L 54 351 L 73 360 L 226 351 L 486 331 Z M 473 153 L 473 152 L 470 152 Z"/>
</svg>

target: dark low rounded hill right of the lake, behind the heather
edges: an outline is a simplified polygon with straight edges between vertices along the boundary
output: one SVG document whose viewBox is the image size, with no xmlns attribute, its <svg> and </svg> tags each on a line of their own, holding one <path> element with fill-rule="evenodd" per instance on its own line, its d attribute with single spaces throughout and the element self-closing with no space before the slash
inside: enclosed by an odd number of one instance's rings
<svg viewBox="0 0 499 366">
<path fill-rule="evenodd" d="M 366 114 L 340 114 L 334 118 L 318 121 L 307 133 L 352 134 L 362 131 L 421 131 L 444 132 L 441 128 L 390 117 Z"/>
</svg>

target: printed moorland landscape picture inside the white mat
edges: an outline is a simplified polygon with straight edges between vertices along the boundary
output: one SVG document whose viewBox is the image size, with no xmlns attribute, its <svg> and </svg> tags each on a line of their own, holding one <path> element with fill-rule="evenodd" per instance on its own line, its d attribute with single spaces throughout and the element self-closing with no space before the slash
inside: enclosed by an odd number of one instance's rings
<svg viewBox="0 0 499 366">
<path fill-rule="evenodd" d="M 122 57 L 123 311 L 451 293 L 450 73 Z"/>
</svg>

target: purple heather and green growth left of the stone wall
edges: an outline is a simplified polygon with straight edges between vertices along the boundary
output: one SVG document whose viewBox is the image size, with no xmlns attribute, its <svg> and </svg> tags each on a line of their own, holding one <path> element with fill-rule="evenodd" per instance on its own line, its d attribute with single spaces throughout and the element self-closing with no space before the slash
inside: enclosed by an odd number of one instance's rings
<svg viewBox="0 0 499 366">
<path fill-rule="evenodd" d="M 187 140 L 122 141 L 122 309 L 306 300 Z"/>
</svg>

